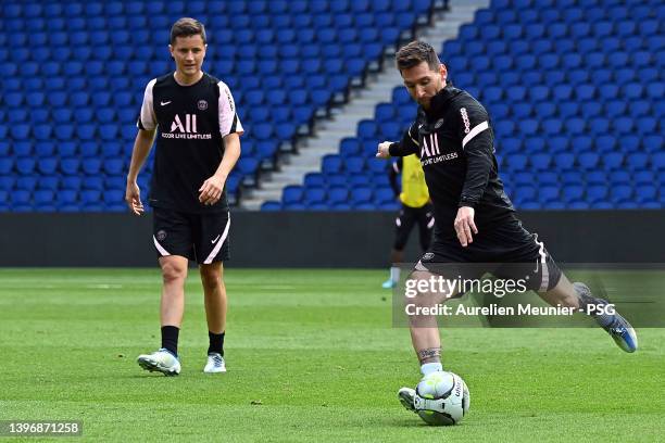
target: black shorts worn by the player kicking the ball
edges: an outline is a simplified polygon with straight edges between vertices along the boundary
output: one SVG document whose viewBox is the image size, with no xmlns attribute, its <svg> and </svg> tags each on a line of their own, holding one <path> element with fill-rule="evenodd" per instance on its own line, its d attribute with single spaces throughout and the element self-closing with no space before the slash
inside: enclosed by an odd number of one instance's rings
<svg viewBox="0 0 665 443">
<path fill-rule="evenodd" d="M 514 217 L 486 228 L 473 240 L 466 248 L 456 239 L 435 240 L 414 270 L 453 279 L 479 279 L 489 273 L 499 279 L 525 279 L 527 289 L 537 292 L 553 289 L 561 279 L 561 269 L 538 235 Z"/>
</svg>

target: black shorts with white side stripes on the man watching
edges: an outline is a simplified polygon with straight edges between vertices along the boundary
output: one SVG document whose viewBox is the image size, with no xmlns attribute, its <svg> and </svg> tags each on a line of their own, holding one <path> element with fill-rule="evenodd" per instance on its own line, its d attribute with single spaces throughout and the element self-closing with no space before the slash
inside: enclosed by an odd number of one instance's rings
<svg viewBox="0 0 665 443">
<path fill-rule="evenodd" d="M 181 255 L 208 265 L 230 258 L 229 227 L 228 212 L 190 214 L 155 207 L 152 240 L 160 257 Z"/>
</svg>

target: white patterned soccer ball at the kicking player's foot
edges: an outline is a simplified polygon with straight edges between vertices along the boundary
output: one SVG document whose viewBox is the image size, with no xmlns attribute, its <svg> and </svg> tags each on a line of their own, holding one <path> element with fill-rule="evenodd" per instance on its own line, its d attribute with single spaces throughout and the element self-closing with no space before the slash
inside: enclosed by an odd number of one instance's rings
<svg viewBox="0 0 665 443">
<path fill-rule="evenodd" d="M 468 413 L 470 396 L 462 377 L 436 371 L 423 377 L 416 387 L 413 403 L 427 425 L 451 426 L 462 421 Z"/>
</svg>

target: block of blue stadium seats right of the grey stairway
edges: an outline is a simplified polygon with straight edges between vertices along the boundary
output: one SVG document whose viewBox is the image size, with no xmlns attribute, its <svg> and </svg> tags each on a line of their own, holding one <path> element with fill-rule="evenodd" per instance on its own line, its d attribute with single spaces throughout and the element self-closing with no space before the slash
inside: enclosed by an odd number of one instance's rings
<svg viewBox="0 0 665 443">
<path fill-rule="evenodd" d="M 664 23 L 662 0 L 492 0 L 444 43 L 453 84 L 490 113 L 517 207 L 665 206 Z M 414 116 L 396 88 L 321 172 L 262 208 L 397 207 L 374 153 Z"/>
</svg>

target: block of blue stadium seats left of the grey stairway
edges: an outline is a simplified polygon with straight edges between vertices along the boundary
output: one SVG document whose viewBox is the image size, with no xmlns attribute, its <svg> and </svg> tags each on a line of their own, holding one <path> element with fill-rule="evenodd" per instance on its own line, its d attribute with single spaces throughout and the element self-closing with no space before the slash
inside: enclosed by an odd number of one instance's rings
<svg viewBox="0 0 665 443">
<path fill-rule="evenodd" d="M 0 211 L 126 211 L 146 84 L 173 68 L 168 30 L 208 27 L 204 69 L 247 129 L 231 203 L 280 144 L 362 78 L 430 0 L 10 0 L 0 20 Z M 141 189 L 152 168 L 139 177 Z M 327 195 L 327 193 L 326 193 Z"/>
</svg>

